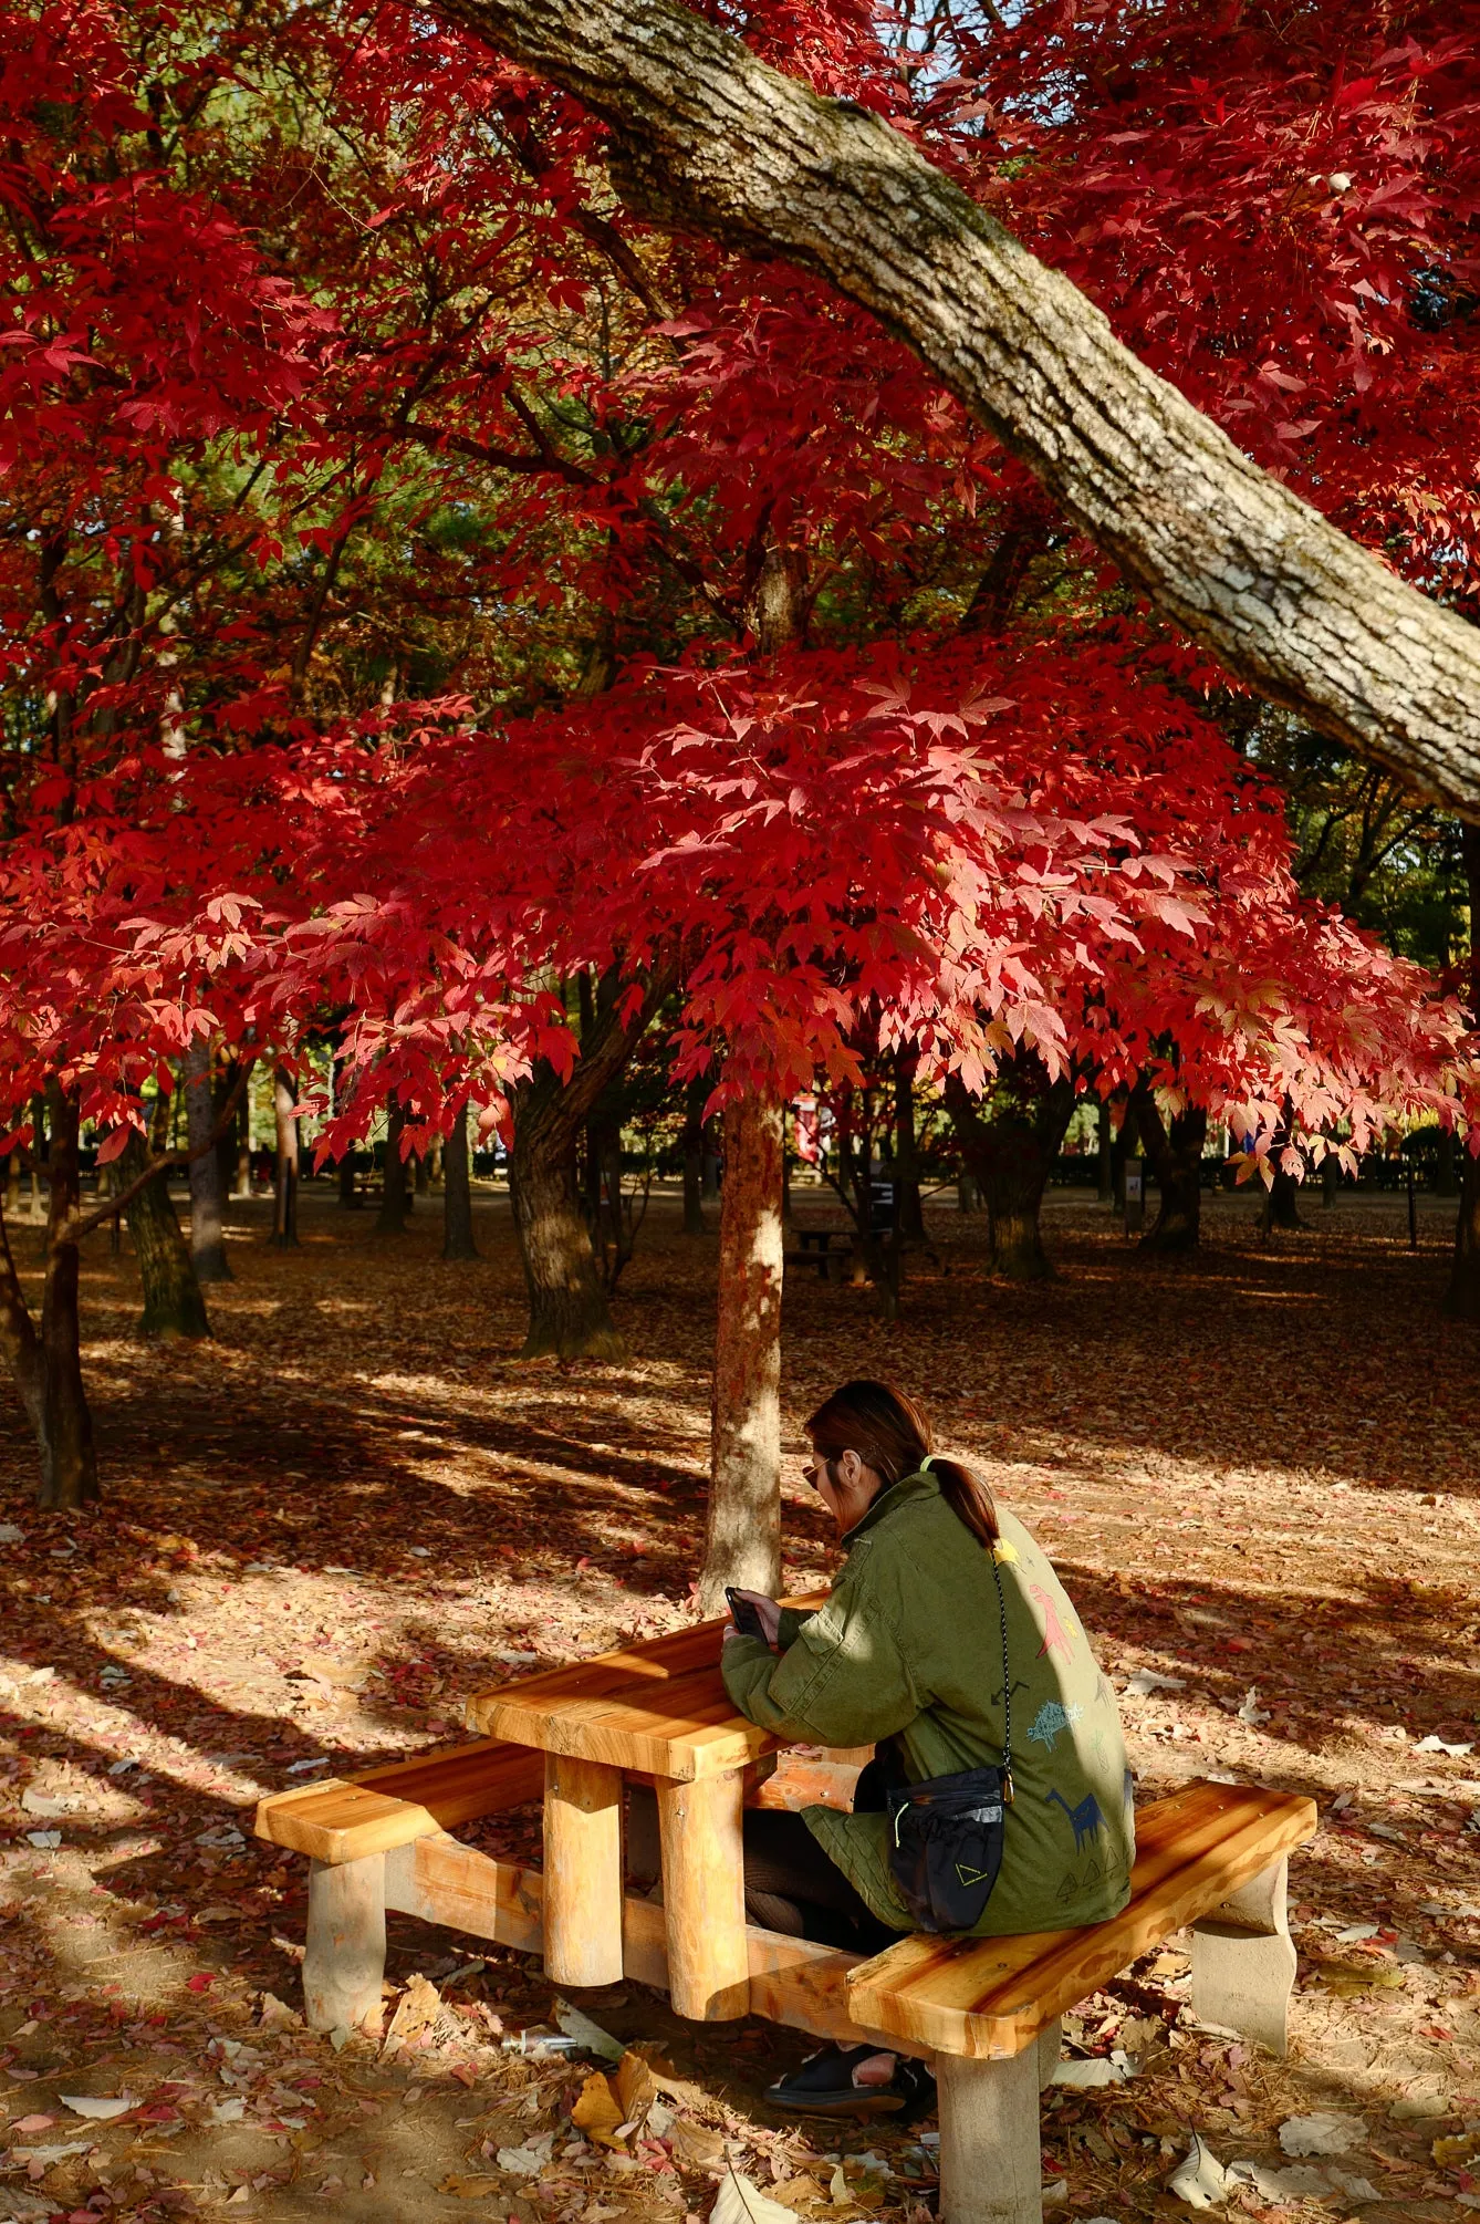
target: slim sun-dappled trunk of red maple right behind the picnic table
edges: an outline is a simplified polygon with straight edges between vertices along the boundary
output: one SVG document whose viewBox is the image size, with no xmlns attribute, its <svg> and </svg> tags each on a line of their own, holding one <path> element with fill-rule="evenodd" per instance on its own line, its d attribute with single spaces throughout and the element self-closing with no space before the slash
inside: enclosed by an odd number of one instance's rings
<svg viewBox="0 0 1480 2224">
<path fill-rule="evenodd" d="M 722 1610 L 727 1583 L 780 1588 L 782 1121 L 780 1096 L 724 1112 L 704 1615 Z"/>
</svg>

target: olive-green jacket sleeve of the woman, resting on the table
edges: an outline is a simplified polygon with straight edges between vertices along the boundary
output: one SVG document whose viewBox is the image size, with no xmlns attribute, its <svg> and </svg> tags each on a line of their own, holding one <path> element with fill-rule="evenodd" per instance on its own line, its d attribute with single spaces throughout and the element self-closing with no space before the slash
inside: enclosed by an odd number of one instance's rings
<svg viewBox="0 0 1480 2224">
<path fill-rule="evenodd" d="M 916 1719 L 929 1695 L 916 1686 L 891 1601 L 869 1579 L 871 1559 L 856 1555 L 780 1661 L 758 1639 L 724 1646 L 724 1688 L 747 1721 L 798 1744 L 871 1746 Z"/>
</svg>

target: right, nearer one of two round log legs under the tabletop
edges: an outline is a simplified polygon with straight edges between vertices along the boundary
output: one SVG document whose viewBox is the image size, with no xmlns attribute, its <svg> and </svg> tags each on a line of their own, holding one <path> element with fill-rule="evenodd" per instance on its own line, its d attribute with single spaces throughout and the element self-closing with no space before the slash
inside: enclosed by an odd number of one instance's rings
<svg viewBox="0 0 1480 2224">
<path fill-rule="evenodd" d="M 744 1770 L 658 1786 L 669 1999 L 718 2024 L 751 2006 L 744 1939 Z"/>
</svg>

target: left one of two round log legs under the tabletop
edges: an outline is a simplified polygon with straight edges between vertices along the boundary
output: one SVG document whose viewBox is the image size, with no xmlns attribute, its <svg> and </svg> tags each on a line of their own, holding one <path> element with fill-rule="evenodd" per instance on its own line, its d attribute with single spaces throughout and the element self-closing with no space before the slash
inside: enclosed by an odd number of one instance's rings
<svg viewBox="0 0 1480 2224">
<path fill-rule="evenodd" d="M 544 1755 L 544 1975 L 622 1975 L 622 1770 Z"/>
</svg>

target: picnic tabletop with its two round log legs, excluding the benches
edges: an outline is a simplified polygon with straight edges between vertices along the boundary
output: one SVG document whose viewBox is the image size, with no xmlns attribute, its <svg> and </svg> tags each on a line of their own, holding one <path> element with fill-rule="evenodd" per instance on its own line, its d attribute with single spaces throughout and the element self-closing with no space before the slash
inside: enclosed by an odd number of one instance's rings
<svg viewBox="0 0 1480 2224">
<path fill-rule="evenodd" d="M 678 2015 L 749 2008 L 742 1810 L 780 1739 L 736 1710 L 722 1624 L 553 1668 L 469 1701 L 469 1726 L 544 1755 L 544 1968 L 622 1975 L 624 1781 L 658 1797 L 669 1995 Z"/>
</svg>

